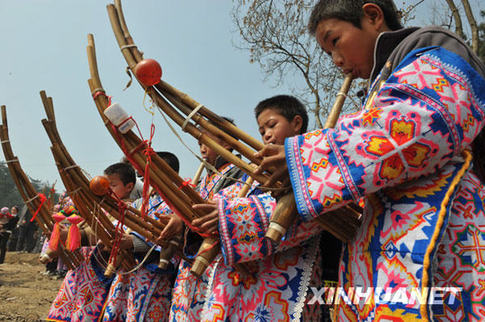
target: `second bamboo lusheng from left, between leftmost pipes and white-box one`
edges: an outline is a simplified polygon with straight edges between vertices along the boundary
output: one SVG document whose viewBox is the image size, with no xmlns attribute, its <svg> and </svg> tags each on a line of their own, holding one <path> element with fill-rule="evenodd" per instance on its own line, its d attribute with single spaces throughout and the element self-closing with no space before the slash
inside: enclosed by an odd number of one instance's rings
<svg viewBox="0 0 485 322">
<path fill-rule="evenodd" d="M 117 232 L 115 226 L 111 220 L 107 217 L 104 210 L 101 208 L 99 197 L 95 198 L 94 194 L 89 189 L 89 181 L 83 174 L 80 167 L 74 162 L 73 158 L 67 151 L 66 146 L 61 140 L 59 132 L 57 130 L 57 125 L 55 122 L 54 105 L 51 97 L 47 97 L 44 91 L 40 92 L 42 103 L 47 115 L 47 119 L 42 120 L 42 124 L 47 132 L 47 135 L 52 143 L 51 151 L 54 157 L 59 175 L 65 188 L 67 189 L 67 194 L 71 198 L 72 202 L 79 210 L 79 215 L 85 220 L 85 222 L 91 228 L 91 232 L 95 234 L 96 239 L 99 238 L 101 242 L 109 248 L 113 247 L 113 243 L 116 240 Z M 105 199 L 108 199 L 106 197 Z M 101 199 L 101 201 L 105 201 Z M 123 220 L 126 223 L 131 224 L 134 216 L 129 211 L 126 211 L 127 215 L 122 218 L 119 213 L 116 201 L 111 200 L 109 206 L 106 207 L 110 209 L 110 214 L 117 220 Z M 133 225 L 129 225 L 132 226 Z M 125 270 L 132 269 L 136 263 L 133 256 L 126 250 L 120 250 L 118 261 L 112 260 L 108 262 L 106 267 L 105 275 L 112 276 L 118 265 L 121 265 Z"/>
</svg>

